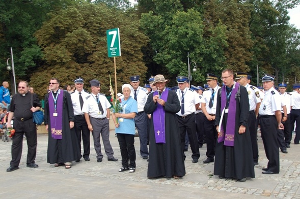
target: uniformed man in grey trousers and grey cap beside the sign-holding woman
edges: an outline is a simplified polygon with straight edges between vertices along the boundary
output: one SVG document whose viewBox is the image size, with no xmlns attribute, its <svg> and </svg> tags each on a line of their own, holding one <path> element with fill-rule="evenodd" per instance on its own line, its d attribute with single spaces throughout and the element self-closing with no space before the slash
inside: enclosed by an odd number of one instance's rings
<svg viewBox="0 0 300 199">
<path fill-rule="evenodd" d="M 114 157 L 114 151 L 110 143 L 110 107 L 104 94 L 100 94 L 100 83 L 98 80 L 91 80 L 92 93 L 86 97 L 82 112 L 85 113 L 85 118 L 92 131 L 94 138 L 94 147 L 97 153 L 97 162 L 101 162 L 103 155 L 101 153 L 100 134 L 102 137 L 105 153 L 108 161 L 118 161 Z"/>
</svg>

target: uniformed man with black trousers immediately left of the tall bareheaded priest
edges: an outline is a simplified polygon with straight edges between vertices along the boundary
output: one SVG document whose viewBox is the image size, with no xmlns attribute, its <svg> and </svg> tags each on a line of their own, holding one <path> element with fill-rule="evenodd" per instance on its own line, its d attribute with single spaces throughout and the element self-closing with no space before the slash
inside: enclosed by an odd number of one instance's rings
<svg viewBox="0 0 300 199">
<path fill-rule="evenodd" d="M 208 90 L 203 92 L 201 98 L 201 109 L 204 114 L 204 132 L 206 136 L 206 156 L 207 159 L 203 163 L 213 162 L 215 155 L 215 142 L 217 131 L 214 125 L 215 111 L 216 111 L 216 101 L 217 92 L 220 86 L 217 85 L 217 76 L 211 73 L 207 74 L 207 85 Z"/>
</svg>

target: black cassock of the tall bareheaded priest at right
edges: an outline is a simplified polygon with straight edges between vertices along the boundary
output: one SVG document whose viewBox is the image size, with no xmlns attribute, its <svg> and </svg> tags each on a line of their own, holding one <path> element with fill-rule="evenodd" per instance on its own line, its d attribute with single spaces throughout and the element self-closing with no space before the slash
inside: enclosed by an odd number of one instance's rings
<svg viewBox="0 0 300 199">
<path fill-rule="evenodd" d="M 216 105 L 215 125 L 219 125 L 221 119 L 221 90 L 219 89 Z M 236 97 L 236 96 L 230 96 Z M 227 108 L 227 107 L 226 107 Z M 229 105 L 230 109 L 230 105 Z M 226 129 L 228 114 L 224 114 L 223 127 Z M 224 142 L 217 143 L 215 146 L 214 175 L 224 176 L 225 178 L 242 179 L 246 177 L 254 178 L 253 152 L 248 127 L 249 117 L 249 98 L 247 89 L 240 86 L 240 98 L 236 97 L 236 117 L 234 146 L 224 146 Z M 246 126 L 246 132 L 238 134 L 240 125 Z"/>
</svg>

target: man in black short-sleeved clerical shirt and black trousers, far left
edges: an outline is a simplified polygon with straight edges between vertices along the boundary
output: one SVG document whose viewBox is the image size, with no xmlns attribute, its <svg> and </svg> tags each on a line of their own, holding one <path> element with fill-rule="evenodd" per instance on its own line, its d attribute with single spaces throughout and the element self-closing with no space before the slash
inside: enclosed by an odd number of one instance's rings
<svg viewBox="0 0 300 199">
<path fill-rule="evenodd" d="M 10 167 L 6 170 L 7 172 L 19 169 L 24 134 L 26 135 L 28 146 L 26 167 L 39 167 L 38 164 L 35 163 L 38 145 L 37 128 L 32 117 L 33 113 L 38 111 L 41 107 L 42 105 L 39 100 L 28 92 L 28 83 L 26 81 L 20 81 L 18 93 L 12 97 L 7 121 L 7 128 L 10 128 L 12 127 L 12 118 L 15 117 L 13 124 L 15 135 L 13 136 L 12 144 L 12 160 L 10 161 Z"/>
</svg>

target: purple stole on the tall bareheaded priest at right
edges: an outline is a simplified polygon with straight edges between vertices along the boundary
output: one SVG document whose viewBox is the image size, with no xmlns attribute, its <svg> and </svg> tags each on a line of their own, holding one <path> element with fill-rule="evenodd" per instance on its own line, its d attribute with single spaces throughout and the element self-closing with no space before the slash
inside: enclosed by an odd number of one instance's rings
<svg viewBox="0 0 300 199">
<path fill-rule="evenodd" d="M 235 95 L 238 91 L 239 83 L 233 85 L 231 90 L 230 100 L 228 109 L 228 117 L 226 123 L 226 130 L 224 130 L 223 122 L 221 124 L 221 131 L 217 135 L 217 142 L 223 142 L 225 146 L 232 146 L 234 145 L 234 133 L 235 133 L 235 115 L 236 115 L 236 100 Z M 221 88 L 221 112 L 226 108 L 227 103 L 227 96 L 226 96 L 226 86 Z M 225 110 L 224 110 L 225 111 Z M 225 113 L 223 113 L 225 114 Z"/>
</svg>

